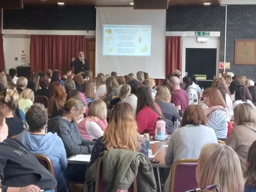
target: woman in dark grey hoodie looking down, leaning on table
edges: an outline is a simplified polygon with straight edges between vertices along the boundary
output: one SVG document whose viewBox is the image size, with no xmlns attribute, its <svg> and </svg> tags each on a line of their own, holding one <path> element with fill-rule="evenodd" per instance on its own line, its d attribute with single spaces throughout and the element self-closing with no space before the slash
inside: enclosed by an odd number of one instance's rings
<svg viewBox="0 0 256 192">
<path fill-rule="evenodd" d="M 91 153 L 95 142 L 83 139 L 78 131 L 77 122 L 83 118 L 86 105 L 81 99 L 70 98 L 64 105 L 63 116 L 58 116 L 48 121 L 48 131 L 57 132 L 62 139 L 67 153 L 67 157 L 74 154 Z M 84 182 L 85 180 L 84 165 L 68 164 L 65 171 L 68 180 L 75 182 Z"/>
</svg>

